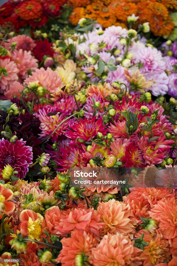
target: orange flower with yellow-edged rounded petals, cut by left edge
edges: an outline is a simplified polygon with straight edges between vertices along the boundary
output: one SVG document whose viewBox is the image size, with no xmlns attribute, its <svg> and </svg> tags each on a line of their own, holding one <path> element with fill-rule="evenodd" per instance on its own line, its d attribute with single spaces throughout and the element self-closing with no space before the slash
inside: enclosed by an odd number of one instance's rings
<svg viewBox="0 0 177 266">
<path fill-rule="evenodd" d="M 15 209 L 15 204 L 9 200 L 13 197 L 12 190 L 0 184 L 0 219 L 4 214 L 9 214 Z"/>
</svg>

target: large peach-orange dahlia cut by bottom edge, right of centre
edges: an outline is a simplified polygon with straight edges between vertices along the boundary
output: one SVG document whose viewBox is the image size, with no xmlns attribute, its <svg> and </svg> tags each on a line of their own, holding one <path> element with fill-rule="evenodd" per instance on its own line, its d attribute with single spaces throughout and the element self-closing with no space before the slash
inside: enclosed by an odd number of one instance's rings
<svg viewBox="0 0 177 266">
<path fill-rule="evenodd" d="M 94 266 L 124 266 L 131 265 L 136 248 L 131 239 L 124 234 L 104 235 L 96 248 L 92 248 Z"/>
</svg>

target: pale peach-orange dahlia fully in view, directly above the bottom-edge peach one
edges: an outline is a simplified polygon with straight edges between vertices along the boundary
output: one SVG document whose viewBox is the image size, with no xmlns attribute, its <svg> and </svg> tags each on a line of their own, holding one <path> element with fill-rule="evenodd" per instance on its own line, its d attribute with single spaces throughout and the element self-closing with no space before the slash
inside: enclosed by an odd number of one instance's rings
<svg viewBox="0 0 177 266">
<path fill-rule="evenodd" d="M 102 235 L 107 232 L 112 234 L 118 233 L 132 233 L 135 231 L 130 216 L 130 206 L 115 199 L 108 202 L 99 202 L 97 214 L 100 214 L 100 222 L 105 222 L 103 226 Z"/>
</svg>

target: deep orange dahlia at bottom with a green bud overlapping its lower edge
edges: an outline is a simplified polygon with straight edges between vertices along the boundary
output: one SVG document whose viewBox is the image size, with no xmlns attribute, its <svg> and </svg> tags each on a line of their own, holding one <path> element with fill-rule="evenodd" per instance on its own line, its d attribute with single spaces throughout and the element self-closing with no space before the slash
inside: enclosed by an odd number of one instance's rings
<svg viewBox="0 0 177 266">
<path fill-rule="evenodd" d="M 88 256 L 88 263 L 92 264 L 92 248 L 96 247 L 97 239 L 92 234 L 86 232 L 72 231 L 71 237 L 61 240 L 62 250 L 57 259 L 57 263 L 61 262 L 63 266 L 75 265 L 75 257 L 77 254 L 84 253 Z M 86 261 L 86 263 L 87 263 Z"/>
</svg>

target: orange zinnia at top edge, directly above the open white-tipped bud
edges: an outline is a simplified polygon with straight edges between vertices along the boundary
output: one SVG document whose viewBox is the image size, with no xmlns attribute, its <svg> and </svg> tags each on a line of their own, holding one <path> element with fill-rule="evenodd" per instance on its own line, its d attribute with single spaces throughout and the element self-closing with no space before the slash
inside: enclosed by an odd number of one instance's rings
<svg viewBox="0 0 177 266">
<path fill-rule="evenodd" d="M 137 14 L 137 6 L 134 3 L 123 2 L 115 9 L 115 16 L 123 21 L 127 21 L 127 16 Z"/>
</svg>

